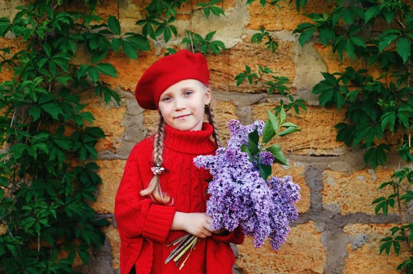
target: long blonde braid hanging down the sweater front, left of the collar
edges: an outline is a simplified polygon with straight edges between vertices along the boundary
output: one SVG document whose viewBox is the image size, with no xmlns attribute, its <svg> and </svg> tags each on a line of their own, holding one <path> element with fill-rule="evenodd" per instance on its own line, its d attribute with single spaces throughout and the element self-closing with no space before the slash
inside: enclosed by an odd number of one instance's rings
<svg viewBox="0 0 413 274">
<path fill-rule="evenodd" d="M 158 126 L 156 127 L 155 141 L 153 141 L 153 161 L 158 166 L 162 166 L 162 152 L 163 152 L 163 141 L 165 139 L 165 119 L 160 115 Z M 140 195 L 149 195 L 157 203 L 167 204 L 171 200 L 168 194 L 165 194 L 160 189 L 160 175 L 153 175 L 149 186 L 140 191 Z"/>
</svg>

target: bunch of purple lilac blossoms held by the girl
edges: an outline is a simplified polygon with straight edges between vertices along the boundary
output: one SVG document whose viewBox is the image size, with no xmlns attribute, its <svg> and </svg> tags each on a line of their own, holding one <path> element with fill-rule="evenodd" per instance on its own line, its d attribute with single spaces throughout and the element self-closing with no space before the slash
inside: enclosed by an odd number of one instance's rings
<svg viewBox="0 0 413 274">
<path fill-rule="evenodd" d="M 213 175 L 207 201 L 211 227 L 233 231 L 241 225 L 246 236 L 254 237 L 255 247 L 261 247 L 270 238 L 271 247 L 277 250 L 290 231 L 289 221 L 298 217 L 295 203 L 300 198 L 299 186 L 288 175 L 267 179 L 274 161 L 285 159 L 282 154 L 276 159 L 281 150 L 277 145 L 262 151 L 257 140 L 266 126 L 263 121 L 242 126 L 231 120 L 228 126 L 227 148 L 218 148 L 215 156 L 200 155 L 194 159 L 198 168 L 206 168 Z"/>
</svg>

